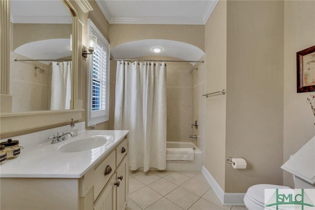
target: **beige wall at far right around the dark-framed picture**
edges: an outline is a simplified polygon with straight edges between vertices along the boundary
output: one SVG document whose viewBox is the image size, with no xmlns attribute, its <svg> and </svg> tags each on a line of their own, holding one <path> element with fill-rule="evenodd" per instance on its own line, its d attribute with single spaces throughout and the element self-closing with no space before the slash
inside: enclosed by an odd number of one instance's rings
<svg viewBox="0 0 315 210">
<path fill-rule="evenodd" d="M 314 45 L 315 1 L 284 1 L 284 162 L 315 135 L 315 118 L 306 103 L 312 93 L 296 93 L 296 52 Z M 284 185 L 293 187 L 286 172 Z"/>
</svg>

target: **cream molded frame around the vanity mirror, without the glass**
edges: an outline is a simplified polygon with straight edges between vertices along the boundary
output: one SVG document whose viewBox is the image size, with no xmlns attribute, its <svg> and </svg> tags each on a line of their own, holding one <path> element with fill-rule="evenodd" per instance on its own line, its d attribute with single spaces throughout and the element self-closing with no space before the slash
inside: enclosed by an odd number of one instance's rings
<svg viewBox="0 0 315 210">
<path fill-rule="evenodd" d="M 82 121 L 84 109 L 79 95 L 78 78 L 82 63 L 82 26 L 85 13 L 93 10 L 88 0 L 63 0 L 72 15 L 72 72 L 73 109 L 0 113 L 0 135 L 7 138 L 14 135 L 59 127 L 70 122 L 71 118 Z M 1 49 L 0 49 L 0 94 L 1 99 L 10 99 L 10 1 L 0 0 L 1 5 Z M 1 100 L 1 105 L 4 103 Z M 12 104 L 8 102 L 9 105 Z"/>
</svg>

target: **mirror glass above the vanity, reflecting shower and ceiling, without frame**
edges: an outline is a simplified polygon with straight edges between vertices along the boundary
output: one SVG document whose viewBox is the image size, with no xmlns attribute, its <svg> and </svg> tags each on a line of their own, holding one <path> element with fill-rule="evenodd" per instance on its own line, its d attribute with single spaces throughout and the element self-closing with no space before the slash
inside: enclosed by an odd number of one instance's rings
<svg viewBox="0 0 315 210">
<path fill-rule="evenodd" d="M 62 0 L 11 0 L 12 112 L 73 108 L 71 17 Z"/>
</svg>

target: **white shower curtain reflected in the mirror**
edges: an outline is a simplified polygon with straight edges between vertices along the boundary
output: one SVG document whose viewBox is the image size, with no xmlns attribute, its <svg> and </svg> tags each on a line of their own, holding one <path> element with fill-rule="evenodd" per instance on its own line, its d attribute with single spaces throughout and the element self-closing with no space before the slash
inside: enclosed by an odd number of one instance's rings
<svg viewBox="0 0 315 210">
<path fill-rule="evenodd" d="M 70 109 L 71 61 L 52 65 L 50 110 Z"/>
</svg>

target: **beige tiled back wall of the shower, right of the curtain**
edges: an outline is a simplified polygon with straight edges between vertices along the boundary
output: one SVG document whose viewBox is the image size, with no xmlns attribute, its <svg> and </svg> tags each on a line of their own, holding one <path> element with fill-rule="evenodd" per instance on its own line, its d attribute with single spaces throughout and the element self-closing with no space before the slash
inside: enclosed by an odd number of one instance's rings
<svg viewBox="0 0 315 210">
<path fill-rule="evenodd" d="M 167 141 L 191 141 L 193 77 L 189 63 L 167 63 Z"/>
</svg>

